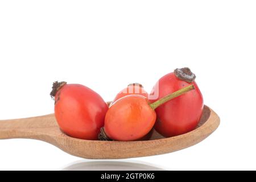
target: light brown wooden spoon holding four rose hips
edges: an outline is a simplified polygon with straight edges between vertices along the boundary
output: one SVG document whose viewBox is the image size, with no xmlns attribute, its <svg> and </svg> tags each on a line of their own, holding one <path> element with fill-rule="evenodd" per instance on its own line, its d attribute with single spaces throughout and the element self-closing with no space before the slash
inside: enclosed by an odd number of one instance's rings
<svg viewBox="0 0 256 182">
<path fill-rule="evenodd" d="M 0 139 L 27 138 L 51 143 L 68 154 L 86 159 L 125 159 L 160 155 L 193 146 L 207 138 L 220 124 L 218 115 L 204 106 L 197 129 L 183 135 L 163 138 L 154 131 L 150 140 L 109 142 L 68 137 L 57 126 L 53 114 L 0 121 Z M 29 148 L 28 148 L 29 150 Z"/>
</svg>

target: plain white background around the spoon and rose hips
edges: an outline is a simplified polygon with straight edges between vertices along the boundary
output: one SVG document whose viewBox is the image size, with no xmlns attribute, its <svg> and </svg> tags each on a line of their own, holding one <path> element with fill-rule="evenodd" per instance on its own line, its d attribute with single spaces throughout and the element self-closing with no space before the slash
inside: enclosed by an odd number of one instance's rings
<svg viewBox="0 0 256 182">
<path fill-rule="evenodd" d="M 150 92 L 166 73 L 190 67 L 220 127 L 185 150 L 122 161 L 256 169 L 255 10 L 255 1 L 234 0 L 0 1 L 0 118 L 52 113 L 55 80 L 110 101 L 130 82 Z M 58 170 L 77 160 L 48 143 L 0 140 L 0 169 Z"/>
</svg>

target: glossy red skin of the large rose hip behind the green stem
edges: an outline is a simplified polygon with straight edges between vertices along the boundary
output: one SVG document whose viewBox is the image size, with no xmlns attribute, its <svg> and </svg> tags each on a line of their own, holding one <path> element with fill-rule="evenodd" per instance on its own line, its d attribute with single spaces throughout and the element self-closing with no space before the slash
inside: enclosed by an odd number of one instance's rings
<svg viewBox="0 0 256 182">
<path fill-rule="evenodd" d="M 150 100 L 151 103 L 191 84 L 195 86 L 195 90 L 156 108 L 158 119 L 156 119 L 155 130 L 164 137 L 174 137 L 195 129 L 204 107 L 203 96 L 196 82 L 193 81 L 190 84 L 177 78 L 174 73 L 169 73 L 160 78 L 158 84 L 154 86 L 150 95 L 159 88 L 159 96 Z"/>
</svg>

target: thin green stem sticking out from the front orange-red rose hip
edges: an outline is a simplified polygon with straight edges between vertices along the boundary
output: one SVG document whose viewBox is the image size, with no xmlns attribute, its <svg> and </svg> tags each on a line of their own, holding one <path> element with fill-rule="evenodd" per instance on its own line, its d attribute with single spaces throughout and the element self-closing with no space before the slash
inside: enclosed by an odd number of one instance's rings
<svg viewBox="0 0 256 182">
<path fill-rule="evenodd" d="M 178 90 L 177 92 L 169 94 L 166 97 L 160 98 L 158 101 L 155 101 L 152 104 L 150 104 L 150 107 L 155 110 L 160 105 L 162 105 L 162 104 L 164 104 L 164 103 L 166 103 L 166 102 L 168 102 L 168 101 L 170 101 L 170 100 L 172 100 L 172 99 L 174 99 L 176 97 L 179 97 L 182 94 L 187 93 L 187 92 L 189 92 L 189 91 L 191 91 L 193 89 L 195 89 L 195 86 L 194 85 L 189 85 L 189 86 L 187 86 L 187 87 L 185 87 L 183 89 Z"/>
</svg>

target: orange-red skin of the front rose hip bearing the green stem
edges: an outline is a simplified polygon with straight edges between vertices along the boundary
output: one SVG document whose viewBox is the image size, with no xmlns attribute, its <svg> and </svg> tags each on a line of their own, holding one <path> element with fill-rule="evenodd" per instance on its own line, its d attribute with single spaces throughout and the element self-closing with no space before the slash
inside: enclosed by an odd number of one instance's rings
<svg viewBox="0 0 256 182">
<path fill-rule="evenodd" d="M 140 95 L 120 98 L 108 110 L 104 130 L 113 140 L 133 141 L 150 133 L 156 121 L 148 99 Z"/>
</svg>

